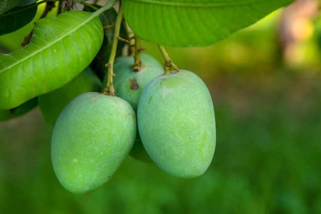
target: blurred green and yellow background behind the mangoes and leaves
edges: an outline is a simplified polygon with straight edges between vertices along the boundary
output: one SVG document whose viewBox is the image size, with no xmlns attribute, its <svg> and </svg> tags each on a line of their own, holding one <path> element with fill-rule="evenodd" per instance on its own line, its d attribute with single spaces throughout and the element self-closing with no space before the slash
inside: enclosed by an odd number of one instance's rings
<svg viewBox="0 0 321 214">
<path fill-rule="evenodd" d="M 321 18 L 298 8 L 209 47 L 167 48 L 212 94 L 217 144 L 203 176 L 176 179 L 128 157 L 102 188 L 69 193 L 35 108 L 0 122 L 0 213 L 321 213 Z M 10 44 L 24 32 L 1 36 L 2 47 L 19 48 Z M 162 61 L 154 44 L 143 45 Z"/>
</svg>

